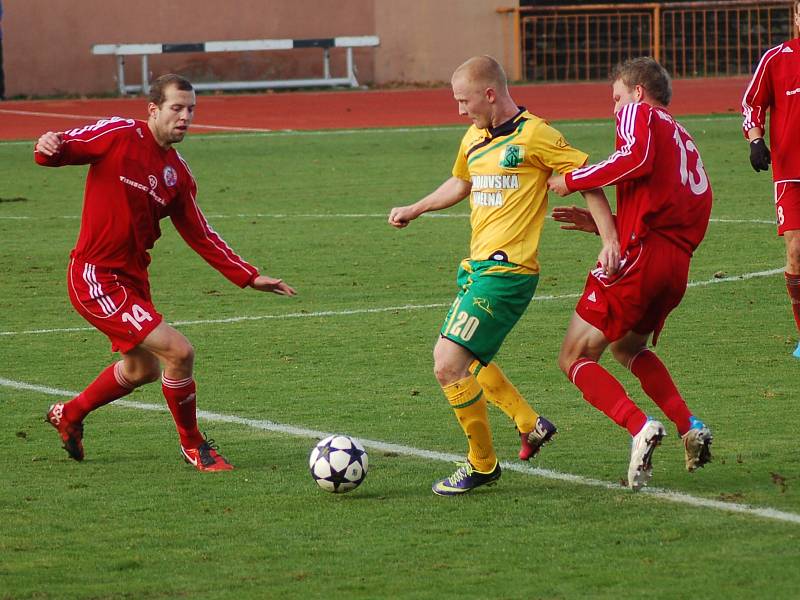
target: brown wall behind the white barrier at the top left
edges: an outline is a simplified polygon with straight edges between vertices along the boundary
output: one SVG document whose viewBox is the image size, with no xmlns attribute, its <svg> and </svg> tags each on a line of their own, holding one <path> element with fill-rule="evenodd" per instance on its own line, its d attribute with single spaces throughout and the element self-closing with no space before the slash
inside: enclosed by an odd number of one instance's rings
<svg viewBox="0 0 800 600">
<path fill-rule="evenodd" d="M 507 60 L 499 6 L 518 0 L 3 0 L 6 95 L 114 93 L 116 64 L 93 44 L 378 35 L 355 51 L 362 83 L 447 81 L 473 54 Z M 344 51 L 332 50 L 332 75 Z M 508 65 L 507 65 L 508 68 Z M 128 83 L 140 80 L 128 57 Z M 150 71 L 194 81 L 320 77 L 322 50 L 170 54 Z"/>
</svg>

